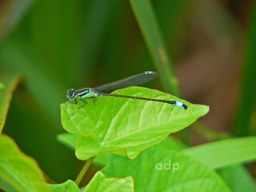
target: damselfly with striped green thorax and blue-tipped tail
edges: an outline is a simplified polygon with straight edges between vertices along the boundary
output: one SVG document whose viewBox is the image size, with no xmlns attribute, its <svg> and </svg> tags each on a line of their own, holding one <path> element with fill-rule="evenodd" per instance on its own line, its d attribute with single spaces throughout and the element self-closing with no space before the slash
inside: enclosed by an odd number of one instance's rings
<svg viewBox="0 0 256 192">
<path fill-rule="evenodd" d="M 187 109 L 188 106 L 186 106 L 184 103 L 175 101 L 175 100 L 161 100 L 161 99 L 148 99 L 144 97 L 134 97 L 134 96 L 127 96 L 127 95 L 115 95 L 115 94 L 109 94 L 109 93 L 102 93 L 103 90 L 118 90 L 122 88 L 127 88 L 129 86 L 136 86 L 143 83 L 147 83 L 148 81 L 151 81 L 152 79 L 155 79 L 157 77 L 156 72 L 152 71 L 146 71 L 140 74 L 136 74 L 131 77 L 127 77 L 125 79 L 121 79 L 119 81 L 115 81 L 113 83 L 103 84 L 100 86 L 97 86 L 95 88 L 83 88 L 81 90 L 74 90 L 73 88 L 68 88 L 67 90 L 67 98 L 70 101 L 74 101 L 77 104 L 77 98 L 82 100 L 85 104 L 84 98 L 95 98 L 97 97 L 103 97 L 103 96 L 112 96 L 112 97 L 124 97 L 129 99 L 141 99 L 141 100 L 151 100 L 156 102 L 164 102 L 168 104 L 172 104 L 175 106 L 178 106 L 182 109 Z M 68 101 L 67 100 L 67 101 Z M 95 100 L 94 100 L 95 101 Z"/>
</svg>

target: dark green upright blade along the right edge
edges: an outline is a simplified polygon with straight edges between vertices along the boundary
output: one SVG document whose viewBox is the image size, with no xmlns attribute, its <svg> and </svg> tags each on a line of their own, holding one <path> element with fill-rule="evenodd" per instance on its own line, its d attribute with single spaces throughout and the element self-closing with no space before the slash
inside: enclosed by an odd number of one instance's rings
<svg viewBox="0 0 256 192">
<path fill-rule="evenodd" d="M 248 27 L 245 63 L 243 66 L 243 79 L 241 89 L 241 102 L 236 118 L 235 132 L 237 136 L 248 136 L 256 134 L 255 106 L 256 106 L 256 3 L 253 2 L 250 24 Z M 253 120 L 254 119 L 254 120 Z"/>
</svg>

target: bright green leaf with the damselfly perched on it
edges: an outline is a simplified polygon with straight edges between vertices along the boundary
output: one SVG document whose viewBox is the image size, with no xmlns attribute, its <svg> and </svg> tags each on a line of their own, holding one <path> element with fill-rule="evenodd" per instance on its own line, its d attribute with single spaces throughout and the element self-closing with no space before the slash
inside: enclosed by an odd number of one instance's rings
<svg viewBox="0 0 256 192">
<path fill-rule="evenodd" d="M 102 152 L 113 152 L 134 159 L 141 150 L 164 140 L 168 134 L 184 129 L 209 111 L 207 106 L 189 104 L 167 93 L 131 87 L 115 94 L 153 99 L 178 100 L 188 110 L 147 100 L 102 97 L 61 104 L 61 122 L 68 132 L 81 134 L 76 156 L 87 159 Z M 83 106 L 83 108 L 80 108 Z"/>
</svg>

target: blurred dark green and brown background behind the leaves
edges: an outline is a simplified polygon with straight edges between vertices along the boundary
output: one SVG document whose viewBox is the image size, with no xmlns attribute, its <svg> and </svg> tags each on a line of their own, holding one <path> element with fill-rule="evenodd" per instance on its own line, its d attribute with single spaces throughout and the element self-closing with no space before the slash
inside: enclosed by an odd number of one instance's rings
<svg viewBox="0 0 256 192">
<path fill-rule="evenodd" d="M 202 124 L 185 132 L 188 140 L 183 141 L 198 145 L 223 135 L 255 135 L 253 1 L 149 2 L 179 81 L 177 96 L 210 106 Z M 0 2 L 0 75 L 24 76 L 3 132 L 56 182 L 75 179 L 83 164 L 56 140 L 56 134 L 65 132 L 60 104 L 67 88 L 99 86 L 154 70 L 160 78 L 145 86 L 174 92 L 163 85 L 163 66 L 148 51 L 143 23 L 130 3 Z M 147 8 L 140 13 L 147 16 Z"/>
</svg>

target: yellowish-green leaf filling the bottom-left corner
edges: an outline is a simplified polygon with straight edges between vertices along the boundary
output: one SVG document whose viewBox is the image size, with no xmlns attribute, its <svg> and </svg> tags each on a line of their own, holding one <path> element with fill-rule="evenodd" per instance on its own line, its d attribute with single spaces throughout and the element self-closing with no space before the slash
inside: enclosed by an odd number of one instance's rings
<svg viewBox="0 0 256 192">
<path fill-rule="evenodd" d="M 4 191 L 50 191 L 34 159 L 20 152 L 8 136 L 0 136 L 0 188 Z"/>
</svg>

